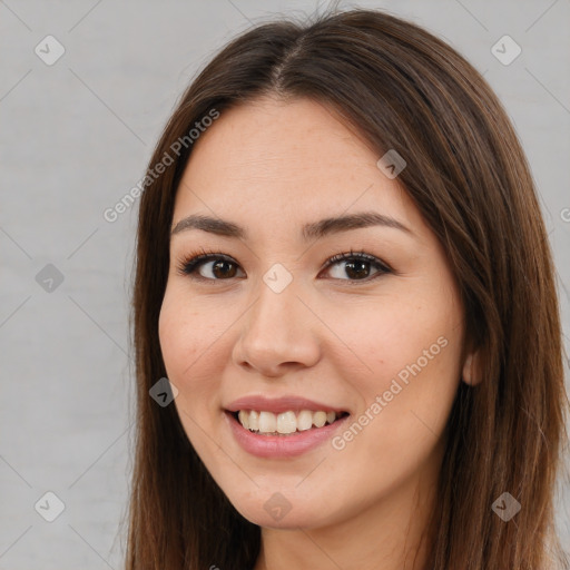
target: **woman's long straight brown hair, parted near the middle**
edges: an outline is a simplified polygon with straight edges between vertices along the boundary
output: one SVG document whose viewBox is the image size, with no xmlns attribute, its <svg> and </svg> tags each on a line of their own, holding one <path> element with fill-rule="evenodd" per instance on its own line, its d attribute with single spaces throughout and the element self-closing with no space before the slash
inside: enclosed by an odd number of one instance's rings
<svg viewBox="0 0 570 570">
<path fill-rule="evenodd" d="M 175 195 L 193 148 L 188 131 L 213 110 L 265 94 L 327 105 L 379 158 L 389 149 L 404 157 L 399 181 L 458 279 L 482 381 L 460 383 L 449 417 L 425 568 L 537 570 L 554 561 L 568 568 L 553 511 L 567 440 L 561 326 L 527 159 L 481 75 L 428 31 L 377 10 L 278 20 L 240 35 L 191 82 L 156 146 L 137 236 L 126 568 L 249 570 L 259 552 L 259 527 L 212 479 L 175 406 L 157 405 L 149 390 L 166 376 L 158 315 Z M 166 155 L 174 164 L 156 176 Z M 492 510 L 504 492 L 522 507 L 509 522 Z"/>
</svg>

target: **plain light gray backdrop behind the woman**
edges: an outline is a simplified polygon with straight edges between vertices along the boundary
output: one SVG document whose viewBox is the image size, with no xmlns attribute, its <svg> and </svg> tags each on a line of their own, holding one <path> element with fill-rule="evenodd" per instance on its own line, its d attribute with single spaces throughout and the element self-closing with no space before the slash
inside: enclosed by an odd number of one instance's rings
<svg viewBox="0 0 570 570">
<path fill-rule="evenodd" d="M 495 89 L 541 195 L 568 335 L 570 0 L 341 3 L 351 6 L 424 26 Z M 141 178 L 179 95 L 223 43 L 272 13 L 316 7 L 0 1 L 0 569 L 120 568 L 137 204 L 115 223 L 104 210 Z M 35 52 L 48 35 L 66 50 L 52 66 Z M 522 48 L 508 66 L 491 52 L 504 35 Z M 568 548 L 567 485 L 558 518 Z M 65 503 L 51 523 L 35 509 L 48 491 Z M 53 500 L 39 504 L 55 513 Z"/>
</svg>

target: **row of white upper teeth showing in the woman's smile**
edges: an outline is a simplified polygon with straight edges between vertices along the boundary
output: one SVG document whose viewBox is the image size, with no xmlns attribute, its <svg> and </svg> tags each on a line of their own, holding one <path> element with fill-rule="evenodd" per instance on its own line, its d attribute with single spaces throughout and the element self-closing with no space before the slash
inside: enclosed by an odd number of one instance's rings
<svg viewBox="0 0 570 570">
<path fill-rule="evenodd" d="M 295 431 L 311 430 L 313 425 L 322 428 L 325 423 L 333 423 L 336 420 L 336 412 L 312 412 L 303 410 L 295 415 L 295 412 L 256 412 L 255 410 L 240 410 L 239 423 L 246 430 L 259 431 L 261 433 L 294 433 Z"/>
</svg>

